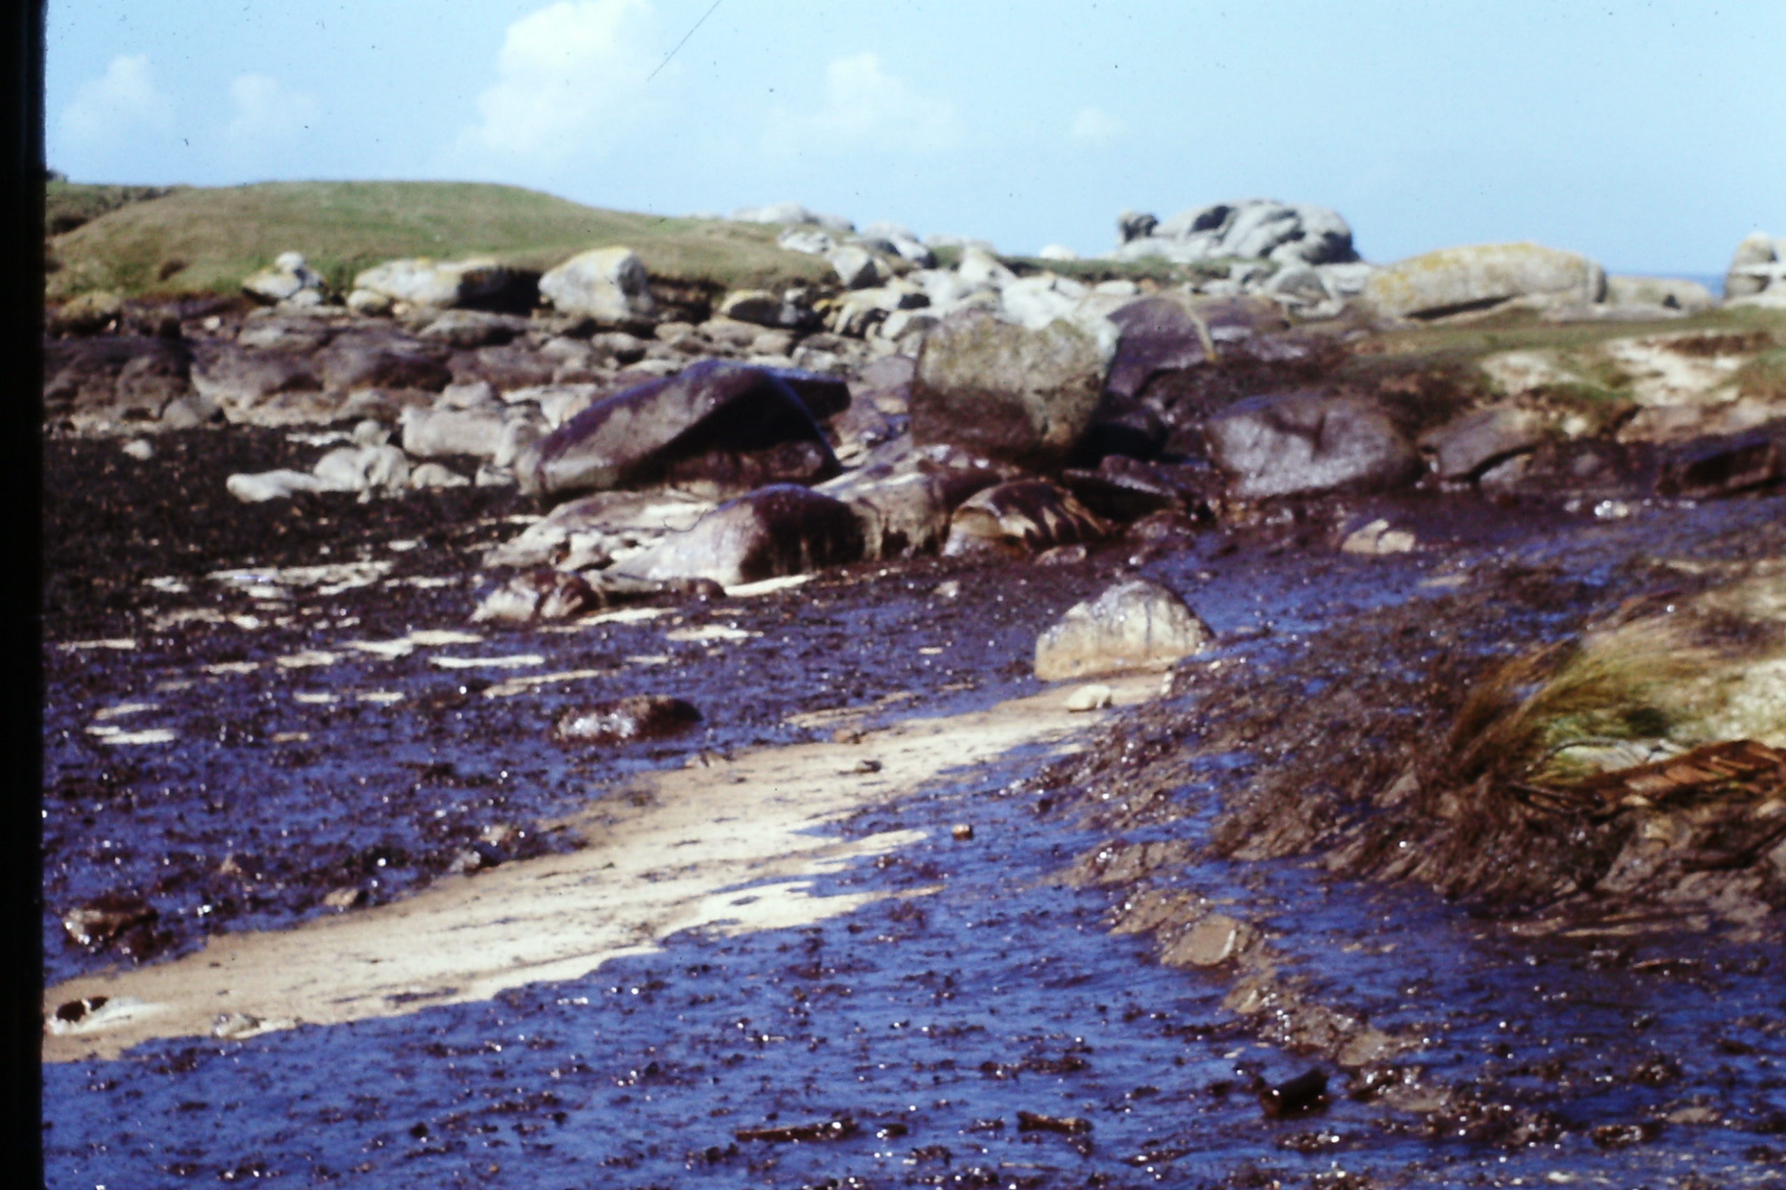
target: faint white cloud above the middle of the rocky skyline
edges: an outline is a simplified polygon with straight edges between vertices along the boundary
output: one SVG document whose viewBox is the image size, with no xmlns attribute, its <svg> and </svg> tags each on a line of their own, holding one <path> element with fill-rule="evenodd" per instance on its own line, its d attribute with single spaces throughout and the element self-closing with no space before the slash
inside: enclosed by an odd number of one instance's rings
<svg viewBox="0 0 1786 1190">
<path fill-rule="evenodd" d="M 839 57 L 825 66 L 825 103 L 809 116 L 777 107 L 766 143 L 775 152 L 893 148 L 929 153 L 961 145 L 956 107 L 914 93 L 880 68 L 875 54 Z"/>
</svg>

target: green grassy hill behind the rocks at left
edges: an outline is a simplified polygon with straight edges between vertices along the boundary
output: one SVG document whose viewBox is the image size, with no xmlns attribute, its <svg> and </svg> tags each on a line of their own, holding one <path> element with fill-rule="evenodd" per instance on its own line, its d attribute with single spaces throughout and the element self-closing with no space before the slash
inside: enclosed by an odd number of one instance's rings
<svg viewBox="0 0 1786 1190">
<path fill-rule="evenodd" d="M 780 228 L 584 207 L 477 182 L 264 182 L 230 187 L 52 182 L 52 207 L 95 212 L 48 243 L 46 296 L 236 293 L 280 252 L 302 252 L 345 291 L 395 257 L 493 255 L 552 268 L 586 248 L 627 244 L 652 277 L 725 287 L 820 280 L 820 257 L 782 252 Z M 54 227 L 54 225 L 52 225 Z"/>
</svg>

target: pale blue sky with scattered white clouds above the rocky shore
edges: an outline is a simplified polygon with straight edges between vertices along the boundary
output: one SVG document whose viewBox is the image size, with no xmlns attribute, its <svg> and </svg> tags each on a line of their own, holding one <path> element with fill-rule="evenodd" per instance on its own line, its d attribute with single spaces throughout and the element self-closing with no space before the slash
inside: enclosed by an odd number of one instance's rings
<svg viewBox="0 0 1786 1190">
<path fill-rule="evenodd" d="M 91 182 L 797 200 L 1088 255 L 1125 207 L 1272 196 L 1379 262 L 1722 273 L 1786 236 L 1782 61 L 1782 0 L 52 0 L 45 111 Z"/>
</svg>

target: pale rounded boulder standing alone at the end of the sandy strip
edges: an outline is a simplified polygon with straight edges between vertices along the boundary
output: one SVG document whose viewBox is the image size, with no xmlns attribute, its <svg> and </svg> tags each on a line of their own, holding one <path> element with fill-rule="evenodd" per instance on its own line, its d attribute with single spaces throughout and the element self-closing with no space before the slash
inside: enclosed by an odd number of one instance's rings
<svg viewBox="0 0 1786 1190">
<path fill-rule="evenodd" d="M 1147 580 L 1077 603 L 1036 640 L 1043 682 L 1127 669 L 1166 669 L 1209 648 L 1213 633 L 1177 594 Z"/>
</svg>

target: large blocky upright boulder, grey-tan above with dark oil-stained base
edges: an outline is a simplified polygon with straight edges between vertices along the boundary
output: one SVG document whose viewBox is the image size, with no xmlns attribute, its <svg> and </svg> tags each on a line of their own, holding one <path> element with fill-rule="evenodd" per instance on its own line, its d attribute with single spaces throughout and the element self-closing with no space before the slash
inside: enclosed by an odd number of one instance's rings
<svg viewBox="0 0 1786 1190">
<path fill-rule="evenodd" d="M 961 310 L 923 339 L 911 389 L 913 441 L 1038 471 L 1057 467 L 1091 426 L 1104 366 L 1098 341 L 1070 323 L 1029 330 Z"/>
</svg>

